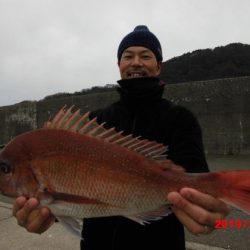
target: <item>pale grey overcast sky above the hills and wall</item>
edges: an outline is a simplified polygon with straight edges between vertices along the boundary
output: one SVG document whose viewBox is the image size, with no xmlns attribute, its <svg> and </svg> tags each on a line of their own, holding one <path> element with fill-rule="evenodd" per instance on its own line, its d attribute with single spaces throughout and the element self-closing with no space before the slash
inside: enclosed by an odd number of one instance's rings
<svg viewBox="0 0 250 250">
<path fill-rule="evenodd" d="M 250 44 L 249 0 L 0 0 L 0 106 L 119 80 L 116 53 L 138 24 L 164 61 Z"/>
</svg>

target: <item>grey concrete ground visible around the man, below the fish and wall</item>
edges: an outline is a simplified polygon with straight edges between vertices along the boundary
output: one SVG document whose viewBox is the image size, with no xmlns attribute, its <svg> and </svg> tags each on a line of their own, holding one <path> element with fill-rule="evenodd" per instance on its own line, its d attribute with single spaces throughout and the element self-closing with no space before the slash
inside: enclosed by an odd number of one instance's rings
<svg viewBox="0 0 250 250">
<path fill-rule="evenodd" d="M 224 169 L 250 169 L 250 155 L 246 156 L 208 156 L 212 171 Z M 4 206 L 4 207 L 3 207 Z M 77 250 L 79 239 L 65 230 L 59 223 L 46 233 L 35 235 L 16 224 L 11 215 L 11 207 L 0 203 L 0 250 Z M 250 216 L 233 210 L 227 217 L 232 220 L 249 220 Z M 249 228 L 217 229 L 210 235 L 193 236 L 186 232 L 187 250 L 249 250 Z"/>
</svg>

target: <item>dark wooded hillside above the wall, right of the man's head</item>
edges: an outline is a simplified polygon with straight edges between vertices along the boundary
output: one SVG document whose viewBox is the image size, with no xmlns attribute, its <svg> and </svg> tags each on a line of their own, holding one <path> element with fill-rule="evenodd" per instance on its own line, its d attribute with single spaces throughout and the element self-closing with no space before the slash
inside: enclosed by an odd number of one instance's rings
<svg viewBox="0 0 250 250">
<path fill-rule="evenodd" d="M 161 79 L 167 83 L 250 76 L 250 45 L 232 43 L 195 50 L 163 63 Z"/>
</svg>

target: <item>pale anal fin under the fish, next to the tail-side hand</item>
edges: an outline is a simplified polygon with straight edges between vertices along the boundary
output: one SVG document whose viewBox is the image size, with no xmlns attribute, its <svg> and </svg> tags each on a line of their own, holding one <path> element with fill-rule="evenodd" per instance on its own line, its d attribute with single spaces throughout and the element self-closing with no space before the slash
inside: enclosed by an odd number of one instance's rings
<svg viewBox="0 0 250 250">
<path fill-rule="evenodd" d="M 163 217 L 168 216 L 171 213 L 172 211 L 170 208 L 170 204 L 166 204 L 154 211 L 149 211 L 149 212 L 135 214 L 135 215 L 126 215 L 125 217 L 141 225 L 145 225 L 145 224 L 149 224 L 150 221 L 160 220 Z"/>
</svg>

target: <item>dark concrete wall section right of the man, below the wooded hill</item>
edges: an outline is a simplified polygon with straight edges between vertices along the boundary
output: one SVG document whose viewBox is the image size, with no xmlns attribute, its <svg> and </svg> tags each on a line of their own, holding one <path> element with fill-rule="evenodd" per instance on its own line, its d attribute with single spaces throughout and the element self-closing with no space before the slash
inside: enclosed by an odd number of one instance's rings
<svg viewBox="0 0 250 250">
<path fill-rule="evenodd" d="M 198 117 L 206 153 L 250 153 L 250 77 L 183 83 L 167 92 Z"/>
</svg>

